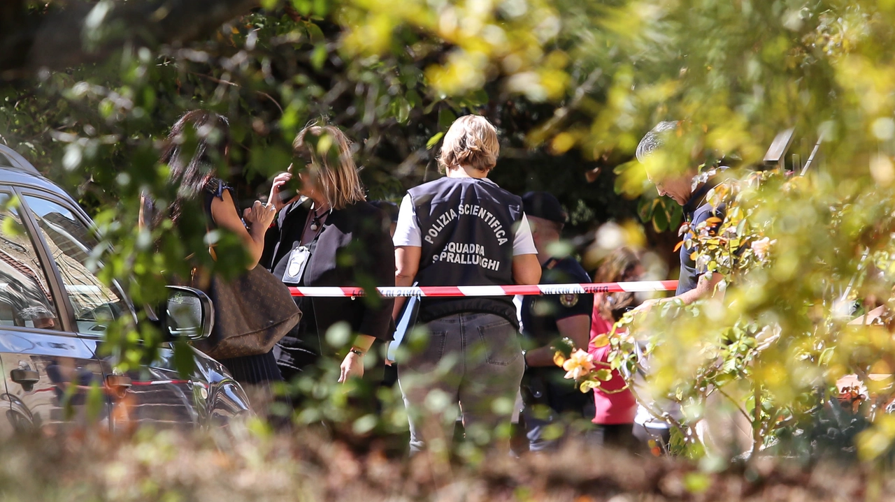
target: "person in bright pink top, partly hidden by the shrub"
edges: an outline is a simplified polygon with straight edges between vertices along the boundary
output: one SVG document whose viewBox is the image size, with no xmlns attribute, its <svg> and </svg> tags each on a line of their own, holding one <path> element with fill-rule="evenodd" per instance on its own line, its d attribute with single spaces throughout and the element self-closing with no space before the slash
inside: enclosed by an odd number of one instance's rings
<svg viewBox="0 0 895 502">
<path fill-rule="evenodd" d="M 644 273 L 640 256 L 629 247 L 620 247 L 613 251 L 601 264 L 594 282 L 620 282 L 638 280 Z M 594 347 L 594 339 L 609 333 L 612 325 L 627 310 L 637 304 L 633 293 L 600 293 L 593 296 L 593 314 L 591 316 L 591 343 L 588 353 L 592 354 L 595 364 L 609 367 L 609 351 L 611 347 L 604 345 Z M 593 443 L 607 448 L 627 448 L 634 450 L 638 446 L 633 429 L 637 402 L 634 394 L 626 389 L 625 380 L 618 370 L 612 371 L 612 378 L 601 383 L 599 389 L 593 390 L 593 402 L 596 414 L 592 422 L 596 428 L 588 434 Z"/>
</svg>

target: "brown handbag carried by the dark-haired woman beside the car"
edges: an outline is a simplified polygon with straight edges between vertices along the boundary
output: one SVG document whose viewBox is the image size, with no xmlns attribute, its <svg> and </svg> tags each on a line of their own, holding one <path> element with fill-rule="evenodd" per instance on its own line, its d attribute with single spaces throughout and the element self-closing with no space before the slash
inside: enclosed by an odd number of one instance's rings
<svg viewBox="0 0 895 502">
<path fill-rule="evenodd" d="M 194 344 L 215 359 L 265 354 L 302 319 L 286 285 L 262 266 L 233 280 L 195 271 L 192 287 L 215 305 L 211 336 Z"/>
</svg>

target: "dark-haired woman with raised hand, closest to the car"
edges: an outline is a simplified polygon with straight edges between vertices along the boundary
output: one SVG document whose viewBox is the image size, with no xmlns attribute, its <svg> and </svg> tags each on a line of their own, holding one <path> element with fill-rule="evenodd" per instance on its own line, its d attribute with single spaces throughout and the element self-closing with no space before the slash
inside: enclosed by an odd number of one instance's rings
<svg viewBox="0 0 895 502">
<path fill-rule="evenodd" d="M 168 205 L 167 211 L 156 212 L 151 222 L 155 227 L 169 218 L 175 227 L 184 231 L 183 213 L 191 205 L 201 204 L 206 220 L 205 230 L 227 230 L 240 238 L 248 255 L 245 268 L 251 270 L 260 262 L 264 250 L 264 234 L 273 222 L 276 210 L 273 205 L 262 205 L 255 201 L 240 217 L 233 188 L 217 178 L 217 166 L 226 164 L 229 146 L 230 126 L 225 117 L 205 110 L 184 113 L 171 128 L 159 160 L 168 165 L 168 182 L 178 187 L 177 195 Z M 141 222 L 143 220 L 141 215 Z M 209 247 L 209 253 L 217 260 L 214 247 Z M 219 362 L 224 364 L 236 381 L 243 384 L 257 385 L 282 380 L 271 352 L 258 356 L 233 357 Z"/>
</svg>

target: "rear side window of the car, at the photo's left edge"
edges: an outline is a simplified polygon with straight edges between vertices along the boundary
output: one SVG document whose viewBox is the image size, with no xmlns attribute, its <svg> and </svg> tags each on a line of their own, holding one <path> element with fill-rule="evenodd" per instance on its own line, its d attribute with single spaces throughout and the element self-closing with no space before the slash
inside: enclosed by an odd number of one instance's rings
<svg viewBox="0 0 895 502">
<path fill-rule="evenodd" d="M 0 325 L 58 330 L 53 293 L 19 211 L 18 199 L 0 192 Z"/>
</svg>

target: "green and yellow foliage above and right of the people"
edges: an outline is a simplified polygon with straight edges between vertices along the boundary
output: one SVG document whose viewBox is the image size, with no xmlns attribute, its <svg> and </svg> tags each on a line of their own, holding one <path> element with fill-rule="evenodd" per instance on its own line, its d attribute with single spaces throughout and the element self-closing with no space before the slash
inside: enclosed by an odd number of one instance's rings
<svg viewBox="0 0 895 502">
<path fill-rule="evenodd" d="M 0 90 L 4 142 L 94 210 L 104 277 L 130 284 L 138 303 L 158 301 L 159 272 L 184 272 L 183 256 L 206 246 L 198 212 L 179 232 L 134 230 L 142 191 L 160 201 L 173 194 L 156 142 L 186 109 L 230 118 L 225 177 L 245 201 L 289 163 L 294 133 L 320 117 L 356 141 L 371 198 L 396 200 L 436 176 L 440 135 L 458 114 L 476 112 L 501 131 L 493 178 L 502 186 L 557 193 L 582 229 L 588 217 L 635 216 L 614 188 L 643 197 L 636 207 L 657 231 L 676 230 L 678 208 L 653 201 L 631 158 L 653 124 L 681 120 L 662 169 L 683 172 L 711 152 L 745 170 L 715 190 L 728 209 L 720 232 L 683 236 L 725 276 L 725 295 L 636 320 L 611 339 L 613 364 L 633 372 L 643 363 L 633 347 L 645 336 L 652 394 L 684 405 L 681 429 L 723 395 L 751 423 L 753 451 L 829 400 L 841 375 L 895 368 L 889 327 L 846 326 L 850 305 L 885 303 L 895 284 L 891 1 L 262 5 L 208 39 L 123 46 L 105 63 Z M 786 169 L 750 174 L 766 167 L 764 152 L 788 128 L 797 140 Z M 805 177 L 783 172 L 805 165 L 819 138 Z M 617 176 L 596 177 L 597 168 Z M 583 182 L 588 173 L 594 184 Z M 889 384 L 868 382 L 883 401 Z M 882 409 L 868 412 L 874 426 L 857 437 L 861 458 L 895 442 Z M 699 442 L 695 432 L 684 437 Z"/>
</svg>

